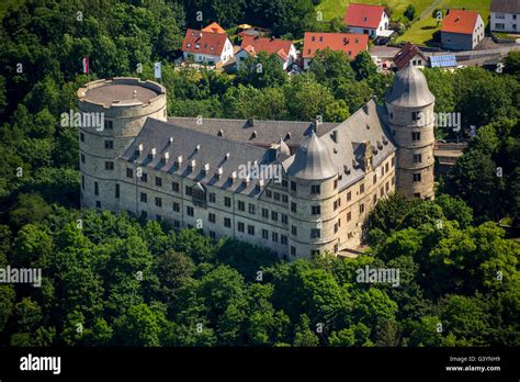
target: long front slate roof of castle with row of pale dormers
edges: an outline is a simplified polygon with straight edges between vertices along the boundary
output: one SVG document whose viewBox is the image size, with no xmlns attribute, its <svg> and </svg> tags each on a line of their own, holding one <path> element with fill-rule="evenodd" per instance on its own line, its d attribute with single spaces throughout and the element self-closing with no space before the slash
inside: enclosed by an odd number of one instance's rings
<svg viewBox="0 0 520 382">
<path fill-rule="evenodd" d="M 171 144 L 170 138 L 173 138 Z M 136 149 L 139 145 L 143 145 L 143 151 L 137 155 Z M 199 150 L 196 149 L 197 145 L 200 145 Z M 152 148 L 156 148 L 156 155 L 152 159 L 149 159 L 148 154 Z M 161 161 L 165 153 L 169 153 L 169 160 L 166 164 Z M 227 153 L 229 153 L 228 159 L 226 159 Z M 182 156 L 183 160 L 181 166 L 177 168 L 176 161 L 179 156 Z M 139 135 L 125 150 L 122 158 L 138 166 L 176 173 L 203 184 L 251 196 L 260 195 L 261 190 L 269 181 L 264 181 L 260 190 L 257 189 L 258 180 L 251 180 L 245 186 L 240 178 L 239 165 L 247 165 L 248 161 L 251 165 L 255 161 L 258 165 L 275 162 L 274 153 L 270 149 L 208 135 L 151 117 L 146 120 Z M 190 171 L 189 166 L 193 159 L 195 160 L 195 168 Z M 210 170 L 204 175 L 202 170 L 206 164 L 210 165 Z M 223 168 L 223 173 L 217 179 L 214 175 L 219 167 Z M 230 184 L 228 178 L 233 171 L 237 172 L 237 178 Z"/>
</svg>

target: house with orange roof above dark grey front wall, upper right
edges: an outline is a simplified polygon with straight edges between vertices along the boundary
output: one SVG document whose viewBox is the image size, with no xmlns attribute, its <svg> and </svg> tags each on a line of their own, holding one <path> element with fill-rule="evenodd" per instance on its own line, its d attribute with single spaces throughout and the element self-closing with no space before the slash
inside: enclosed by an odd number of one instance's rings
<svg viewBox="0 0 520 382">
<path fill-rule="evenodd" d="M 442 21 L 442 48 L 472 50 L 484 40 L 484 20 L 478 12 L 449 10 Z"/>
</svg>

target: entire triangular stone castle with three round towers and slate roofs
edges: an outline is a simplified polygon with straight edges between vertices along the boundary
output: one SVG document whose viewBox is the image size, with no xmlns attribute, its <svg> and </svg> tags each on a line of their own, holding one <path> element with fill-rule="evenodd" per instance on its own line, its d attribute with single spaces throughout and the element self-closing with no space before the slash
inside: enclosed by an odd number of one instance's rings
<svg viewBox="0 0 520 382">
<path fill-rule="evenodd" d="M 269 248 L 286 259 L 341 254 L 397 190 L 433 198 L 434 97 L 414 66 L 385 105 L 342 123 L 167 117 L 166 89 L 137 78 L 87 83 L 80 127 L 82 207 L 128 211 Z M 271 171 L 267 171 L 267 170 Z"/>
</svg>

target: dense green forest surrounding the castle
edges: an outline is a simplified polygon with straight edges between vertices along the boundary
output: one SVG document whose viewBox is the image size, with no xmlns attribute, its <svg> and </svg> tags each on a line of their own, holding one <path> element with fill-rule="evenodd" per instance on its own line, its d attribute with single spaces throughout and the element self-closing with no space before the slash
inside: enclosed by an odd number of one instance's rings
<svg viewBox="0 0 520 382">
<path fill-rule="evenodd" d="M 502 74 L 425 70 L 436 110 L 461 113 L 461 138 L 471 125 L 476 135 L 434 201 L 377 204 L 357 259 L 285 262 L 231 238 L 79 209 L 78 132 L 58 122 L 88 81 L 152 79 L 161 61 L 170 115 L 330 122 L 373 96 L 382 103 L 392 83 L 370 55 L 329 50 L 292 77 L 265 55 L 261 72 L 177 69 L 185 27 L 200 26 L 186 10 L 199 8 L 225 27 L 294 38 L 318 27 L 305 24 L 310 0 L 31 0 L 2 20 L 0 268 L 41 268 L 43 280 L 0 284 L 1 346 L 519 346 L 518 53 Z M 399 269 L 399 288 L 357 282 L 365 266 Z"/>
</svg>

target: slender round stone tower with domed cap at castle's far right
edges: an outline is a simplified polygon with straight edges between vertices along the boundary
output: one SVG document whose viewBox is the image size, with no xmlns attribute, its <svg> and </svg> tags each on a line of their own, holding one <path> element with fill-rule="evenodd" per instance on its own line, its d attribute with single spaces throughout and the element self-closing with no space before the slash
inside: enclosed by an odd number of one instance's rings
<svg viewBox="0 0 520 382">
<path fill-rule="evenodd" d="M 436 98 L 412 65 L 399 70 L 386 94 L 388 122 L 397 146 L 396 190 L 406 198 L 433 199 Z"/>
</svg>

